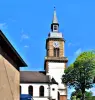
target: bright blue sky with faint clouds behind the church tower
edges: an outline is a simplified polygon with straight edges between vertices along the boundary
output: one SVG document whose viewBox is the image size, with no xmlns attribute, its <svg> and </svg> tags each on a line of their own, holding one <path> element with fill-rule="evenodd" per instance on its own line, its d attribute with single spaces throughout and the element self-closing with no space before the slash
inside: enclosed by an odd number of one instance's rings
<svg viewBox="0 0 95 100">
<path fill-rule="evenodd" d="M 68 65 L 79 53 L 95 49 L 95 0 L 2 0 L 0 29 L 27 63 L 21 70 L 44 70 L 54 6 Z"/>
</svg>

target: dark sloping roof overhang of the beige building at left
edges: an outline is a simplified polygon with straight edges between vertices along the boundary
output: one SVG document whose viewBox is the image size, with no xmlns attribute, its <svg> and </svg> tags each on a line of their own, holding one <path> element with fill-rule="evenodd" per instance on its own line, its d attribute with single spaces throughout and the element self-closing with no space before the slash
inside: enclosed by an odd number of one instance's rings
<svg viewBox="0 0 95 100">
<path fill-rule="evenodd" d="M 17 64 L 18 67 L 27 66 L 24 60 L 20 57 L 3 32 L 0 30 L 0 47 L 2 50 Z"/>
</svg>

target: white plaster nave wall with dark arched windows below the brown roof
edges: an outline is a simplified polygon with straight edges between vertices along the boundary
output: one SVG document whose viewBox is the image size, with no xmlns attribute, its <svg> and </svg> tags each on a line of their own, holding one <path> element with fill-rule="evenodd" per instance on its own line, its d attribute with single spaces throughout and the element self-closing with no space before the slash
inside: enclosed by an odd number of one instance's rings
<svg viewBox="0 0 95 100">
<path fill-rule="evenodd" d="M 48 84 L 40 84 L 40 83 L 35 83 L 35 84 L 20 84 L 21 86 L 21 94 L 28 94 L 28 87 L 29 85 L 33 86 L 33 99 L 34 100 L 47 100 L 49 97 L 49 85 Z M 39 96 L 39 87 L 44 86 L 44 97 Z M 52 88 L 55 90 L 53 91 Z M 52 99 L 57 100 L 57 92 L 58 91 L 58 86 L 57 84 L 50 85 L 50 96 Z"/>
</svg>

